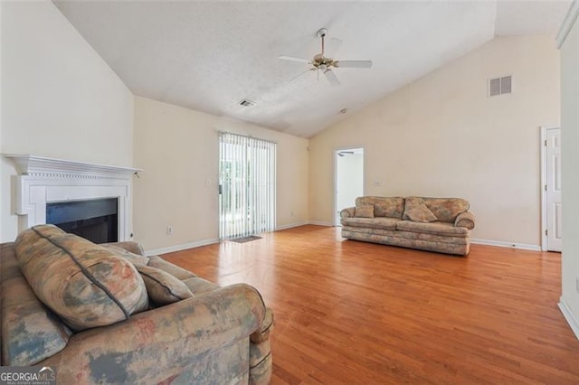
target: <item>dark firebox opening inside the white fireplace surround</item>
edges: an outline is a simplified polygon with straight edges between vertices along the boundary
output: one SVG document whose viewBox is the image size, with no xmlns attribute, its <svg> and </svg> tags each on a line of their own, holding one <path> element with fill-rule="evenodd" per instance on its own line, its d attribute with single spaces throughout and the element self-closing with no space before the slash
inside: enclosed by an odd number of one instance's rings
<svg viewBox="0 0 579 385">
<path fill-rule="evenodd" d="M 93 199 L 46 203 L 46 223 L 52 223 L 94 243 L 119 240 L 119 200 Z"/>
</svg>

